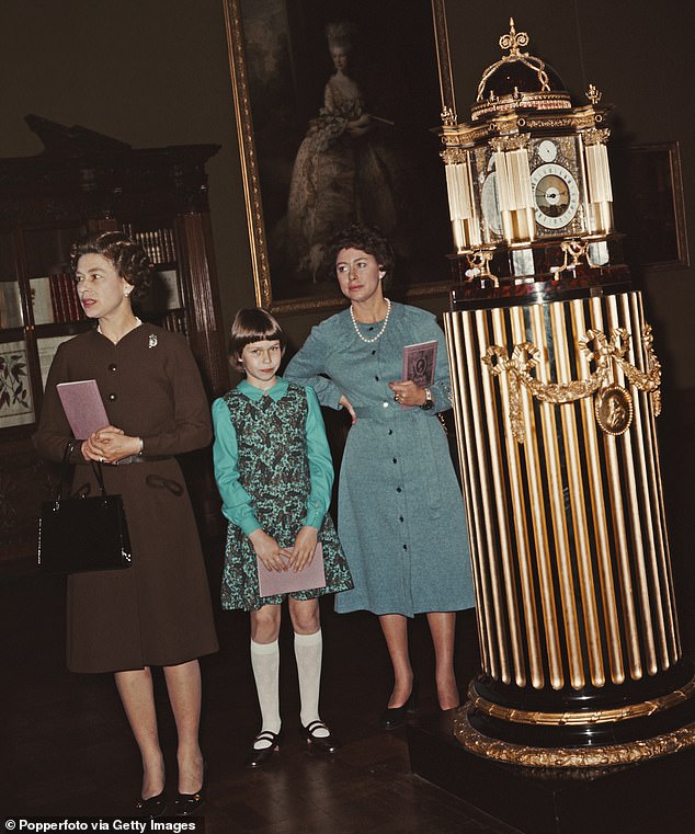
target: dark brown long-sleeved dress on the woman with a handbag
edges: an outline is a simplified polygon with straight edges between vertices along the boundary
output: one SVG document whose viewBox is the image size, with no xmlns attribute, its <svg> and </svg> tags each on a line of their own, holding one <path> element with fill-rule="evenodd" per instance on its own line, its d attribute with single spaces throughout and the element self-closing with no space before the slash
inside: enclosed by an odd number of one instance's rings
<svg viewBox="0 0 695 834">
<path fill-rule="evenodd" d="M 144 460 L 103 467 L 106 491 L 123 495 L 133 563 L 69 578 L 68 669 L 175 665 L 217 651 L 201 542 L 173 457 L 212 439 L 207 399 L 185 340 L 145 323 L 115 345 L 96 330 L 64 342 L 34 436 L 39 454 L 52 460 L 60 460 L 72 439 L 56 384 L 78 379 L 96 379 L 111 423 L 143 438 Z M 73 488 L 88 483 L 96 494 L 79 444 L 71 460 Z"/>
</svg>

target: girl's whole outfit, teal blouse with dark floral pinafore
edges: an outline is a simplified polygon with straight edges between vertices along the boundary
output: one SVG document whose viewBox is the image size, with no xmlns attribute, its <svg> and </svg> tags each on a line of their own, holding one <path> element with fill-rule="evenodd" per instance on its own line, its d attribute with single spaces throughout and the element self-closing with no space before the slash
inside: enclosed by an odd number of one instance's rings
<svg viewBox="0 0 695 834">
<path fill-rule="evenodd" d="M 323 418 L 309 388 L 284 379 L 267 391 L 246 380 L 213 403 L 215 478 L 229 521 L 221 581 L 223 608 L 254 610 L 286 594 L 261 596 L 249 534 L 262 528 L 290 548 L 304 525 L 323 547 L 326 587 L 293 592 L 297 599 L 352 587 L 328 514 L 333 464 Z"/>
</svg>

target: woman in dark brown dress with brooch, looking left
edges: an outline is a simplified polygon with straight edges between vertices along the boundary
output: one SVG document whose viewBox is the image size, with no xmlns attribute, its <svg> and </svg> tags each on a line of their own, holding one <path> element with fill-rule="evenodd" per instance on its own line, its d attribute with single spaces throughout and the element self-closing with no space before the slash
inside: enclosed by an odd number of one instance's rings
<svg viewBox="0 0 695 834">
<path fill-rule="evenodd" d="M 123 495 L 133 562 L 69 578 L 68 669 L 115 673 L 143 757 L 136 812 L 158 816 L 167 800 L 150 666 L 163 667 L 179 739 L 175 809 L 187 814 L 205 798 L 197 659 L 218 647 L 195 519 L 173 456 L 210 442 L 209 408 L 183 336 L 133 312 L 132 296 L 149 283 L 143 248 L 122 232 L 98 232 L 73 245 L 72 266 L 82 308 L 98 327 L 58 347 L 34 441 L 39 454 L 60 460 L 75 438 L 56 385 L 98 381 L 111 425 L 77 438 L 73 487 L 96 494 L 90 464 L 104 464 L 106 491 Z"/>
</svg>

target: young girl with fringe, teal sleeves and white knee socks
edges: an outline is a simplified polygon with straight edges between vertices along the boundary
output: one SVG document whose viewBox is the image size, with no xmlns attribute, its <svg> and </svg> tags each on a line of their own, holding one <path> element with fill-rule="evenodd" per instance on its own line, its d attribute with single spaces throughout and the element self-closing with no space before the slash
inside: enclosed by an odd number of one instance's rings
<svg viewBox="0 0 695 834">
<path fill-rule="evenodd" d="M 239 310 L 229 359 L 246 379 L 213 403 L 215 478 L 229 521 L 223 608 L 251 613 L 251 665 L 262 727 L 247 757 L 260 767 L 281 742 L 277 636 L 288 596 L 301 698 L 300 733 L 314 750 L 340 746 L 319 717 L 321 627 L 318 597 L 352 587 L 328 506 L 333 467 L 314 389 L 277 376 L 285 336 L 259 308 Z M 326 587 L 261 597 L 257 557 L 275 571 L 301 571 L 323 547 Z M 283 549 L 292 551 L 289 561 Z"/>
</svg>

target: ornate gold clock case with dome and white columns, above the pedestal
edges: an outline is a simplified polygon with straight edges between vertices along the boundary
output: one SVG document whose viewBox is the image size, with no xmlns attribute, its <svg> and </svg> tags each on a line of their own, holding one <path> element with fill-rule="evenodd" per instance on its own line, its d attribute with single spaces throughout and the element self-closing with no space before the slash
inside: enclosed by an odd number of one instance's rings
<svg viewBox="0 0 695 834">
<path fill-rule="evenodd" d="M 557 72 L 522 47 L 525 32 L 500 38 L 508 55 L 482 73 L 471 119 L 449 114 L 442 130 L 456 254 L 480 253 L 500 277 L 551 269 L 548 244 L 579 240 L 593 265 L 609 262 L 617 239 L 604 126 L 608 106 L 591 87 L 573 106 Z M 557 269 L 561 255 L 555 256 Z"/>
</svg>

